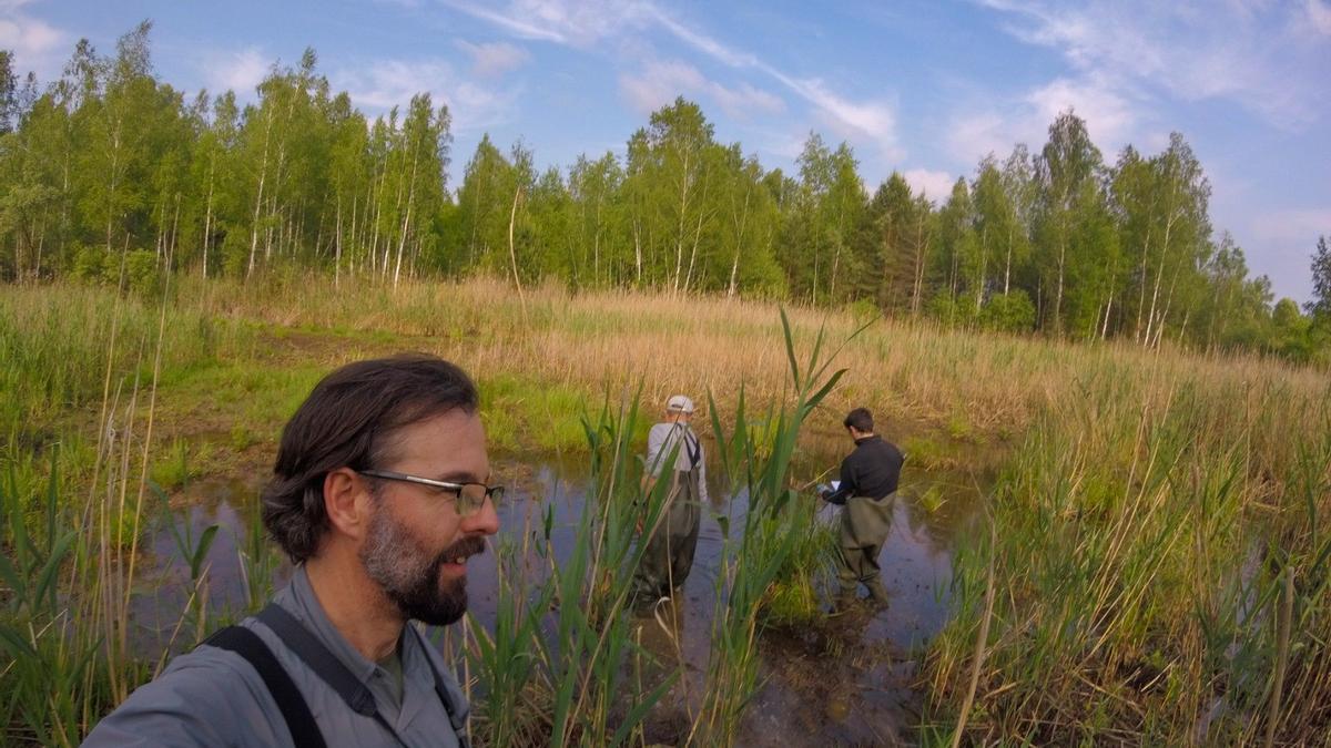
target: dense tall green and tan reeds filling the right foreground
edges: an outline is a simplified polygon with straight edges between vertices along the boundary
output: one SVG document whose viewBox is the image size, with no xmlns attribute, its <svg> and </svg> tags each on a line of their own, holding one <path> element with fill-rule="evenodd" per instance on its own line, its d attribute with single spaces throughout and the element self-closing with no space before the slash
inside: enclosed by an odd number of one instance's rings
<svg viewBox="0 0 1331 748">
<path fill-rule="evenodd" d="M 1324 741 L 1328 425 L 1279 378 L 1083 382 L 1002 471 L 996 547 L 956 562 L 930 721 L 982 743 Z M 1002 594 L 977 644 L 986 568 Z M 952 712 L 973 673 L 984 711 Z"/>
</svg>

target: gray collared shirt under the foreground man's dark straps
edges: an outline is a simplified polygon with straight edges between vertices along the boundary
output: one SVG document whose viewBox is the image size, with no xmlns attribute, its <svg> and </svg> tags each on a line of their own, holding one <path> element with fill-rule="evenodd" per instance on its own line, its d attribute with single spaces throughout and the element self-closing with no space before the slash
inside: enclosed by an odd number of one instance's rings
<svg viewBox="0 0 1331 748">
<path fill-rule="evenodd" d="M 362 656 L 329 622 L 305 567 L 297 567 L 291 583 L 274 602 L 301 620 L 333 655 L 374 695 L 375 705 L 393 725 L 394 737 L 375 719 L 358 715 L 323 680 L 291 652 L 272 628 L 254 618 L 241 622 L 264 640 L 305 697 L 323 740 L 334 745 L 431 745 L 453 748 L 457 735 L 449 713 L 434 691 L 430 661 L 443 673 L 455 708 L 463 720 L 467 701 L 434 647 L 402 632 L 402 691 L 395 675 Z M 410 624 L 409 624 L 410 626 Z M 401 737 L 402 743 L 398 741 Z M 201 646 L 172 660 L 152 683 L 138 687 L 110 715 L 102 717 L 84 745 L 248 747 L 291 745 L 282 712 L 264 679 L 250 664 L 228 650 Z"/>
</svg>

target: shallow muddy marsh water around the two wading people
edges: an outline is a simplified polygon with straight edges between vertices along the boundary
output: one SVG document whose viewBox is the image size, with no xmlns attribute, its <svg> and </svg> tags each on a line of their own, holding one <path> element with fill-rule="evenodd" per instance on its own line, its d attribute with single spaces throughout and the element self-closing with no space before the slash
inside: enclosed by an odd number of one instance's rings
<svg viewBox="0 0 1331 748">
<path fill-rule="evenodd" d="M 809 476 L 839 455 L 817 461 Z M 801 461 L 813 462 L 813 461 Z M 797 467 L 796 474 L 801 471 Z M 520 547 L 543 532 L 546 507 L 554 508 L 552 543 L 556 559 L 568 552 L 586 496 L 586 468 L 550 459 L 496 461 L 496 474 L 508 486 L 499 507 L 498 544 Z M 189 564 L 176 532 L 196 540 L 204 528 L 220 526 L 208 554 L 208 606 L 240 611 L 248 600 L 246 570 L 241 552 L 256 527 L 258 480 L 201 482 L 173 500 L 149 536 L 146 571 L 133 616 L 136 643 L 144 652 L 162 646 L 180 651 L 194 640 L 193 631 L 174 636 L 192 590 Z M 660 608 L 660 619 L 636 619 L 643 647 L 668 663 L 684 664 L 684 677 L 648 719 L 648 743 L 676 743 L 687 733 L 704 684 L 716 604 L 716 574 L 721 554 L 717 516 L 743 527 L 747 496 L 731 496 L 719 482 L 711 487 L 711 508 L 703 514 L 693 570 L 683 595 Z M 892 536 L 880 563 L 892 598 L 885 611 L 868 606 L 792 630 L 768 630 L 761 640 L 761 687 L 747 709 L 740 745 L 892 745 L 913 743 L 922 695 L 913 687 L 917 656 L 946 623 L 953 550 L 969 543 L 978 515 L 974 482 L 957 475 L 926 475 L 909 466 L 896 506 Z M 835 522 L 835 507 L 820 518 Z M 174 527 L 174 532 L 172 531 Z M 528 535 L 530 534 L 530 535 Z M 530 555 L 528 574 L 542 574 L 544 560 Z M 273 583 L 281 586 L 290 568 L 280 563 Z M 494 620 L 496 555 L 484 554 L 469 564 L 470 607 L 478 619 Z M 825 594 L 827 591 L 824 591 Z"/>
</svg>

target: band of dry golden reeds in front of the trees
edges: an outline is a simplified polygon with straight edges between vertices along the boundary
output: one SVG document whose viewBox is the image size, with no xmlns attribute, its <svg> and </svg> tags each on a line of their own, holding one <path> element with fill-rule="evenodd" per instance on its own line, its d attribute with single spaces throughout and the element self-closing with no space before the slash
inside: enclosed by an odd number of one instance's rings
<svg viewBox="0 0 1331 748">
<path fill-rule="evenodd" d="M 571 295 L 547 283 L 528 291 L 524 313 L 496 280 L 410 282 L 397 290 L 343 280 L 338 290 L 322 277 L 190 286 L 181 299 L 205 314 L 285 327 L 337 329 L 353 338 L 389 333 L 394 338 L 381 347 L 431 350 L 482 377 L 508 373 L 590 393 L 634 387 L 640 379 L 644 406 L 652 409 L 676 391 L 699 401 L 712 391 L 724 407 L 741 385 L 757 402 L 788 387 L 771 302 L 630 291 Z M 805 350 L 820 326 L 831 341 L 841 341 L 858 325 L 840 311 L 788 311 Z M 1328 391 L 1324 371 L 1254 355 L 1073 345 L 893 319 L 874 322 L 837 365 L 849 371 L 815 426 L 835 426 L 840 413 L 865 405 L 889 419 L 944 427 L 961 438 L 1020 434 L 1051 403 L 1105 382 L 1131 382 L 1134 397 L 1161 401 L 1181 386 L 1239 395 L 1235 413 L 1279 393 L 1288 406 L 1283 417 L 1292 419 L 1279 419 L 1279 429 L 1310 427 L 1300 417 Z"/>
</svg>

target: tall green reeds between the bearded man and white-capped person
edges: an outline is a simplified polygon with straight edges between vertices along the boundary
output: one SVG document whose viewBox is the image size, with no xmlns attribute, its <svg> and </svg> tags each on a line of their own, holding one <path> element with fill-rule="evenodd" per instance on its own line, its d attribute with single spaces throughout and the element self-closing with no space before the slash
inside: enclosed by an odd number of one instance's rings
<svg viewBox="0 0 1331 748">
<path fill-rule="evenodd" d="M 660 482 L 643 496 L 634 479 L 627 437 L 638 419 L 636 406 L 614 409 L 608 398 L 596 421 L 582 419 L 591 479 L 570 551 L 556 560 L 546 506 L 540 527 L 500 552 L 494 634 L 469 619 L 466 661 L 483 693 L 476 732 L 486 745 L 624 745 L 677 679 L 673 671 L 640 691 L 630 677 L 638 647 L 626 604 L 643 554 L 632 528 L 640 511 L 648 531 L 656 527 L 668 488 Z"/>
</svg>

